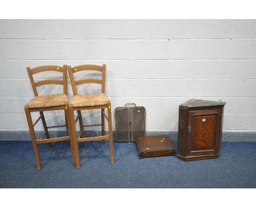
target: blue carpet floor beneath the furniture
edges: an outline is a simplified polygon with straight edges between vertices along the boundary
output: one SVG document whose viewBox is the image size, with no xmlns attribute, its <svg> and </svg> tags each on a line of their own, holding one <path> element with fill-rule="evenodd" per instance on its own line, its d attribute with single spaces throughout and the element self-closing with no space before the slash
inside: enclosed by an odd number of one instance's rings
<svg viewBox="0 0 256 208">
<path fill-rule="evenodd" d="M 184 162 L 177 157 L 138 159 L 135 144 L 79 146 L 81 168 L 67 142 L 39 145 L 36 169 L 31 142 L 0 142 L 0 188 L 256 188 L 256 143 L 223 142 L 218 159 Z M 174 146 L 176 148 L 176 143 Z"/>
</svg>

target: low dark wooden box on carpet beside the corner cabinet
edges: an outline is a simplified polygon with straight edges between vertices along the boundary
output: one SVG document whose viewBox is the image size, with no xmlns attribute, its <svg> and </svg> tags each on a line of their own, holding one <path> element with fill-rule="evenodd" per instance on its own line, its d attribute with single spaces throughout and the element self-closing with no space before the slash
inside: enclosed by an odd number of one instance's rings
<svg viewBox="0 0 256 208">
<path fill-rule="evenodd" d="M 139 158 L 175 155 L 171 140 L 166 135 L 138 137 L 136 146 Z"/>
</svg>

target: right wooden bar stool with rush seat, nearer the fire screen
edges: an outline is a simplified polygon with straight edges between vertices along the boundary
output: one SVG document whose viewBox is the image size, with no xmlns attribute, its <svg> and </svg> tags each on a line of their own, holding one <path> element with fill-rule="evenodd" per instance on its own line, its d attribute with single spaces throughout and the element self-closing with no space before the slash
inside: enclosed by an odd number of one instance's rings
<svg viewBox="0 0 256 208">
<path fill-rule="evenodd" d="M 74 73 L 78 71 L 100 71 L 102 72 L 102 79 L 95 79 L 95 78 L 85 78 L 79 79 L 75 81 Z M 105 83 L 106 83 L 106 65 L 98 66 L 98 65 L 80 65 L 71 68 L 68 66 L 68 73 L 71 79 L 72 89 L 74 93 L 74 97 L 69 102 L 69 116 L 71 119 L 71 129 L 73 142 L 74 142 L 74 150 L 75 150 L 75 161 L 77 161 L 77 168 L 80 168 L 79 162 L 79 154 L 78 154 L 78 142 L 88 142 L 92 140 L 105 140 L 109 139 L 109 149 L 110 149 L 110 162 L 114 163 L 114 150 L 113 150 L 113 133 L 112 133 L 112 116 L 111 116 L 111 103 L 108 97 L 104 94 L 105 93 Z M 77 93 L 77 85 L 86 84 L 86 83 L 96 83 L 101 84 L 101 94 L 85 94 L 85 95 L 78 95 Z M 105 114 L 104 109 L 107 108 L 108 116 Z M 91 125 L 83 125 L 82 114 L 79 113 L 77 118 L 74 119 L 74 111 L 82 111 L 82 110 L 89 110 L 89 109 L 101 109 L 101 124 L 91 124 Z M 108 120 L 108 129 L 109 135 L 105 130 L 105 123 L 104 119 Z M 80 124 L 80 133 L 77 137 L 77 131 L 75 129 L 75 123 L 79 119 Z M 102 136 L 98 137 L 84 137 L 84 127 L 90 126 L 101 126 Z"/>
</svg>

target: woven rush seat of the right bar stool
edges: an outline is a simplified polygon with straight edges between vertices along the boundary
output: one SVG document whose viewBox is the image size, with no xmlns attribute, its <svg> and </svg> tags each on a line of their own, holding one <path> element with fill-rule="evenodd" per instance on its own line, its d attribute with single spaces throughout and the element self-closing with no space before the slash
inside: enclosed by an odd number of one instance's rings
<svg viewBox="0 0 256 208">
<path fill-rule="evenodd" d="M 70 104 L 73 107 L 89 107 L 108 105 L 110 100 L 105 94 L 75 95 Z"/>
</svg>

